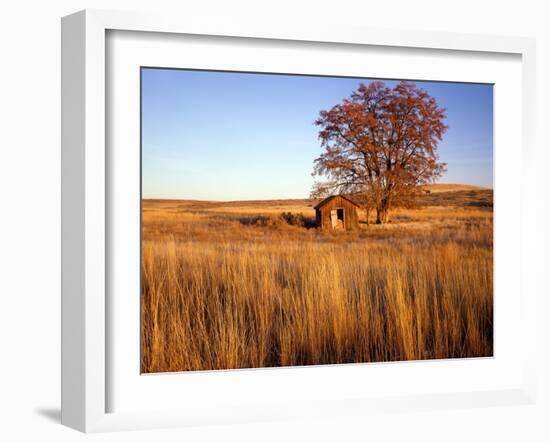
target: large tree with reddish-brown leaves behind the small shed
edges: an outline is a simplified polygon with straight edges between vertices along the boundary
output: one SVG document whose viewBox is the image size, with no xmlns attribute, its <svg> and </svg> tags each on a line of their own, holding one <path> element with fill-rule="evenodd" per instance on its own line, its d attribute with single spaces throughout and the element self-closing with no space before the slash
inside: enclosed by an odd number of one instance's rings
<svg viewBox="0 0 550 442">
<path fill-rule="evenodd" d="M 323 110 L 323 153 L 314 162 L 313 197 L 354 193 L 376 222 L 388 220 L 392 207 L 414 204 L 419 186 L 446 170 L 438 143 L 447 130 L 445 109 L 414 84 L 387 87 L 381 81 L 360 84 L 349 98 Z"/>
</svg>

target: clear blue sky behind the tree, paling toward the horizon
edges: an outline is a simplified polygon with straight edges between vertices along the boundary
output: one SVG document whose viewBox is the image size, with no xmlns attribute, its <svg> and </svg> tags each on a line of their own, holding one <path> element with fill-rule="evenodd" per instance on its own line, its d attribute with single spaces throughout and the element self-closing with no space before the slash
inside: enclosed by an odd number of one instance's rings
<svg viewBox="0 0 550 442">
<path fill-rule="evenodd" d="M 142 69 L 143 197 L 308 197 L 322 152 L 313 122 L 369 81 Z M 414 83 L 447 109 L 440 182 L 492 187 L 492 86 Z"/>
</svg>

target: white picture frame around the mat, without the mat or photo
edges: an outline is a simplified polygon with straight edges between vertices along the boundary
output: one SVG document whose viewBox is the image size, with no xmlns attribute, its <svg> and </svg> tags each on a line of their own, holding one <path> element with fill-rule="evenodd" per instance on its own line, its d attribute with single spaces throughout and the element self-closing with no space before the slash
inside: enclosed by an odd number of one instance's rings
<svg viewBox="0 0 550 442">
<path fill-rule="evenodd" d="M 112 210 L 108 188 L 106 66 L 109 31 L 155 32 L 269 39 L 286 42 L 338 43 L 379 48 L 423 48 L 521 57 L 521 302 L 518 324 L 524 337 L 535 333 L 535 229 L 534 108 L 535 43 L 532 39 L 415 31 L 380 31 L 368 28 L 283 24 L 211 23 L 193 17 L 159 17 L 99 10 L 81 11 L 62 20 L 62 423 L 84 432 L 217 422 L 247 422 L 288 417 L 361 415 L 373 410 L 414 411 L 502 404 L 532 403 L 536 396 L 535 339 L 526 339 L 521 364 L 521 385 L 513 388 L 454 393 L 426 393 L 373 397 L 327 397 L 316 402 L 273 406 L 239 404 L 224 415 L 199 409 L 186 411 L 109 411 L 113 387 L 109 367 L 113 355 L 107 339 L 110 304 L 107 299 L 106 259 L 112 238 L 106 228 Z M 496 166 L 498 167 L 498 165 Z M 496 250 L 498 253 L 498 247 Z M 531 256 L 530 261 L 527 256 Z M 136 370 L 138 368 L 136 367 Z M 384 370 L 382 366 L 381 370 Z M 420 368 L 421 369 L 421 368 Z M 335 367 L 334 370 L 344 370 Z M 241 372 L 242 373 L 242 372 Z M 229 376 L 218 373 L 218 376 Z M 219 378 L 219 377 L 218 377 Z M 169 378 L 168 378 L 169 379 Z M 172 378 L 174 379 L 174 378 Z M 166 381 L 170 383 L 170 380 Z M 258 386 L 265 379 L 259 378 Z M 290 410 L 290 411 L 289 411 Z"/>
</svg>

